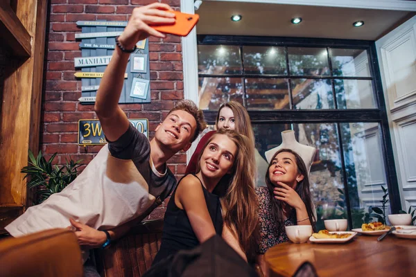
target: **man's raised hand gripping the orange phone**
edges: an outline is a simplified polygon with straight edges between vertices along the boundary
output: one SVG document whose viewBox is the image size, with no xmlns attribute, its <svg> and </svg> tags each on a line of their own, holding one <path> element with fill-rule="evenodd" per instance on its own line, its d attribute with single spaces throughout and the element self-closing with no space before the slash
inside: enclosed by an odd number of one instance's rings
<svg viewBox="0 0 416 277">
<path fill-rule="evenodd" d="M 164 3 L 153 3 L 148 6 L 135 8 L 119 42 L 127 49 L 133 48 L 139 40 L 150 35 L 164 38 L 166 35 L 158 32 L 149 25 L 164 25 L 175 23 L 175 15 L 168 12 L 172 8 Z"/>
</svg>

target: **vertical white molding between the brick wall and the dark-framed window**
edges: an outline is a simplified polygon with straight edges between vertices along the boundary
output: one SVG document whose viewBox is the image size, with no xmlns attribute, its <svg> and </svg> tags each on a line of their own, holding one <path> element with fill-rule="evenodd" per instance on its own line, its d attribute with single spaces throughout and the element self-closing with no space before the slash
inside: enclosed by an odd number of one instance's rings
<svg viewBox="0 0 416 277">
<path fill-rule="evenodd" d="M 194 14 L 193 0 L 180 0 L 181 12 Z M 198 51 L 196 48 L 196 28 L 187 37 L 182 37 L 182 63 L 184 71 L 184 98 L 198 105 Z M 187 164 L 198 145 L 199 137 L 187 151 Z"/>
</svg>

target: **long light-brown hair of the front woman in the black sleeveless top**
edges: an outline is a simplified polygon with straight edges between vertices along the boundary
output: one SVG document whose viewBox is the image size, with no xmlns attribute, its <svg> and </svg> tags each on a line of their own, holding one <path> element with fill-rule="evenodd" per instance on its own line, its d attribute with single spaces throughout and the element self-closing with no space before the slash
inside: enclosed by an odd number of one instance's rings
<svg viewBox="0 0 416 277">
<path fill-rule="evenodd" d="M 223 223 L 239 240 L 241 249 L 249 262 L 254 262 L 258 243 L 258 203 L 254 191 L 254 178 L 250 174 L 251 141 L 247 136 L 229 129 L 219 129 L 205 144 L 198 158 L 197 170 L 200 171 L 200 158 L 209 143 L 218 134 L 225 134 L 237 146 L 231 173 L 225 175 L 220 182 L 227 181 L 227 190 L 221 197 L 223 207 Z"/>
</svg>

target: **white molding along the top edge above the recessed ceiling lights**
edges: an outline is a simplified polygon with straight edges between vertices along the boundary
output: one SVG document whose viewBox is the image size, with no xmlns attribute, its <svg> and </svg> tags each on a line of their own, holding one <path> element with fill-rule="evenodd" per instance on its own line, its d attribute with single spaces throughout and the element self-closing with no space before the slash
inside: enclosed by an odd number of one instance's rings
<svg viewBox="0 0 416 277">
<path fill-rule="evenodd" d="M 189 0 L 191 1 L 191 0 Z M 304 6 L 327 6 L 340 8 L 363 8 L 373 10 L 408 10 L 416 11 L 414 1 L 401 0 L 203 0 L 223 2 L 248 2 L 248 3 L 270 3 Z M 182 1 L 181 1 L 182 2 Z M 202 2 L 202 5 L 204 3 Z"/>
</svg>

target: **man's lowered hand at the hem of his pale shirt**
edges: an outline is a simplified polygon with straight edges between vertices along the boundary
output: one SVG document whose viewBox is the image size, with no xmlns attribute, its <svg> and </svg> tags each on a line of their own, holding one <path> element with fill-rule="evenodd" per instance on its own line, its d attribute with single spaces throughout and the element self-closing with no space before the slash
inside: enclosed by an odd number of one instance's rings
<svg viewBox="0 0 416 277">
<path fill-rule="evenodd" d="M 74 233 L 78 238 L 78 244 L 86 249 L 98 248 L 107 240 L 107 235 L 103 231 L 98 231 L 90 226 L 69 219 L 71 225 L 75 228 Z M 70 227 L 69 227 L 70 228 Z M 73 229 L 73 228 L 72 228 Z"/>
</svg>

